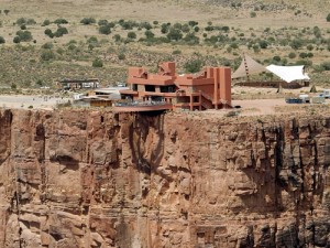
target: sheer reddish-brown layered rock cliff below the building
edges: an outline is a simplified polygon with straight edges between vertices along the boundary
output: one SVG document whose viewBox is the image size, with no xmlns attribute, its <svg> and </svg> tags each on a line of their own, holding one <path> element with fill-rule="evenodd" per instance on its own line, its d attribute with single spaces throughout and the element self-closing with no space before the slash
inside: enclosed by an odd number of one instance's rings
<svg viewBox="0 0 330 248">
<path fill-rule="evenodd" d="M 330 247 L 330 118 L 0 111 L 0 247 Z"/>
</svg>

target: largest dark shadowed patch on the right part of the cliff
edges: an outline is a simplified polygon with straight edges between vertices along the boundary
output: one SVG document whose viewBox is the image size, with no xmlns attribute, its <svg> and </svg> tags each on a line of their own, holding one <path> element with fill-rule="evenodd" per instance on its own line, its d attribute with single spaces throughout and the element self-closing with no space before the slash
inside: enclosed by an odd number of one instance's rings
<svg viewBox="0 0 330 248">
<path fill-rule="evenodd" d="M 280 126 L 273 127 L 272 130 L 268 131 L 275 134 L 275 147 L 272 148 L 270 145 L 265 129 L 262 125 L 260 132 L 255 137 L 255 141 L 264 143 L 264 158 L 257 161 L 256 154 L 251 151 L 252 165 L 241 169 L 241 171 L 250 179 L 250 182 L 253 182 L 256 185 L 256 188 L 254 193 L 240 195 L 240 198 L 244 203 L 244 207 L 250 212 L 272 214 L 276 217 L 279 212 L 283 211 L 282 191 L 284 190 L 285 184 L 280 179 L 280 171 L 283 169 L 285 136 Z M 271 151 L 272 149 L 273 151 Z M 271 155 L 272 153 L 274 155 Z"/>
</svg>

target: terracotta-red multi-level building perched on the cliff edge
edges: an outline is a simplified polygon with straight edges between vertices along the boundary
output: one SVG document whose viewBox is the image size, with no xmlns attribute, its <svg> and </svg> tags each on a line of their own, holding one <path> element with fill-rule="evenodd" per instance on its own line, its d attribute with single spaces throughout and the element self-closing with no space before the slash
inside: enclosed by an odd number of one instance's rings
<svg viewBox="0 0 330 248">
<path fill-rule="evenodd" d="M 231 107 L 231 68 L 206 67 L 199 74 L 176 74 L 174 62 L 161 63 L 157 74 L 130 67 L 128 85 L 120 90 L 128 101 L 120 107 L 205 110 Z M 131 103 L 131 104 L 129 104 Z M 166 106 L 166 107 L 165 107 Z"/>
</svg>

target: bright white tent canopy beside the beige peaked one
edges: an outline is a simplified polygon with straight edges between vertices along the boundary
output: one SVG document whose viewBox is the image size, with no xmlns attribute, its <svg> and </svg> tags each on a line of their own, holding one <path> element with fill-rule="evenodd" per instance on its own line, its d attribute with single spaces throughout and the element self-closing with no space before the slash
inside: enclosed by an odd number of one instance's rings
<svg viewBox="0 0 330 248">
<path fill-rule="evenodd" d="M 293 80 L 310 79 L 309 76 L 304 73 L 304 65 L 296 65 L 296 66 L 268 65 L 266 68 L 287 83 L 292 83 Z"/>
</svg>

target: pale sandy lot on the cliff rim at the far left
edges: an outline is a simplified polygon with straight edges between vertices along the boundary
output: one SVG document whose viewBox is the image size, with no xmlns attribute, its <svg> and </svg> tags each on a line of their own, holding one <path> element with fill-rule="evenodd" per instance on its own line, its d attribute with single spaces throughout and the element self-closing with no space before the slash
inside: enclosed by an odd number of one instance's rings
<svg viewBox="0 0 330 248">
<path fill-rule="evenodd" d="M 0 95 L 0 108 L 37 108 L 53 109 L 56 104 L 65 103 L 70 98 L 54 96 L 24 96 L 24 95 Z"/>
</svg>

